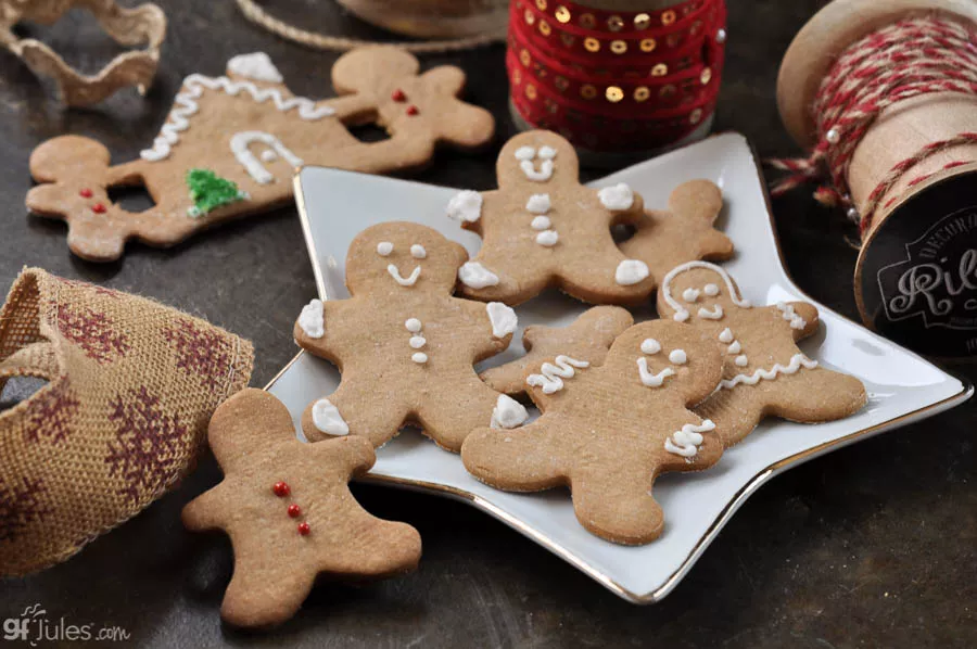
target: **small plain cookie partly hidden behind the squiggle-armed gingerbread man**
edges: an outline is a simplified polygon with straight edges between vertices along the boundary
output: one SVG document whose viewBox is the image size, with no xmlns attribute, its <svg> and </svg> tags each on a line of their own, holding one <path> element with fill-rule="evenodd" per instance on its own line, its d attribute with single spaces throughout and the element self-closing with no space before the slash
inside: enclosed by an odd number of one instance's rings
<svg viewBox="0 0 977 649">
<path fill-rule="evenodd" d="M 611 343 L 634 324 L 634 318 L 619 306 L 595 306 L 567 327 L 526 327 L 522 332 L 525 356 L 485 370 L 482 381 L 508 395 L 525 392 L 525 370 L 560 354 L 598 366 L 604 362 Z"/>
</svg>

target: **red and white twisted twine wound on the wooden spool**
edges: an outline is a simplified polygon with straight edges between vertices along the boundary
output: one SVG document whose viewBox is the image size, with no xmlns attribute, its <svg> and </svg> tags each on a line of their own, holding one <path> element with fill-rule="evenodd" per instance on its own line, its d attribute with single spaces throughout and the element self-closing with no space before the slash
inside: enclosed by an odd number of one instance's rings
<svg viewBox="0 0 977 649">
<path fill-rule="evenodd" d="M 847 205 L 848 216 L 864 234 L 881 199 L 910 169 L 941 151 L 977 143 L 977 132 L 930 142 L 886 174 L 861 214 L 851 205 L 848 167 L 873 122 L 892 104 L 935 92 L 977 94 L 977 31 L 935 16 L 904 20 L 873 31 L 849 47 L 821 84 L 814 101 L 819 141 L 811 156 L 769 161 L 790 173 L 771 193 L 781 195 L 829 176 L 833 187 L 819 188 L 814 198 L 829 206 Z M 963 164 L 966 162 L 952 162 L 944 168 Z M 914 178 L 910 186 L 931 175 Z M 885 207 L 897 198 L 889 199 Z"/>
</svg>

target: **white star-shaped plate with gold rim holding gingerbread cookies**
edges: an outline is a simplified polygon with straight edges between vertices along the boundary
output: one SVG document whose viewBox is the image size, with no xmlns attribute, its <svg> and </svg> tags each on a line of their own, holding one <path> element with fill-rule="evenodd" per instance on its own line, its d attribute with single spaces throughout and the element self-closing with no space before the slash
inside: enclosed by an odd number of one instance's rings
<svg viewBox="0 0 977 649">
<path fill-rule="evenodd" d="M 744 297 L 754 304 L 813 302 L 787 277 L 763 181 L 741 136 L 710 138 L 593 186 L 626 182 L 645 196 L 649 207 L 663 208 L 675 186 L 695 178 L 708 178 L 723 190 L 725 208 L 720 227 L 737 251 L 725 267 L 741 287 Z M 346 250 L 360 230 L 373 224 L 417 221 L 460 242 L 472 255 L 479 249 L 478 237 L 445 216 L 445 205 L 457 189 L 321 167 L 301 169 L 295 186 L 322 300 L 348 296 L 344 285 Z M 868 405 L 853 417 L 817 425 L 767 420 L 726 451 L 715 467 L 660 478 L 655 496 L 664 510 L 665 530 L 648 545 L 624 547 L 586 532 L 573 516 L 566 489 L 538 494 L 493 489 L 471 478 L 459 456 L 442 450 L 416 431 L 406 431 L 380 448 L 366 480 L 470 502 L 621 597 L 638 603 L 657 601 L 682 580 L 739 506 L 774 475 L 847 444 L 931 417 L 970 396 L 968 384 L 919 356 L 821 305 L 817 308 L 823 326 L 817 335 L 801 344 L 803 351 L 825 367 L 861 379 L 868 390 Z M 584 305 L 558 294 L 532 300 L 517 308 L 520 331 L 516 338 L 526 324 L 568 324 L 584 309 Z M 637 319 L 648 317 L 654 317 L 650 310 L 636 313 Z M 515 358 L 521 349 L 513 341 L 509 351 L 487 362 Z M 306 405 L 330 394 L 339 380 L 339 371 L 331 364 L 300 354 L 268 390 L 289 407 L 297 430 Z"/>
</svg>

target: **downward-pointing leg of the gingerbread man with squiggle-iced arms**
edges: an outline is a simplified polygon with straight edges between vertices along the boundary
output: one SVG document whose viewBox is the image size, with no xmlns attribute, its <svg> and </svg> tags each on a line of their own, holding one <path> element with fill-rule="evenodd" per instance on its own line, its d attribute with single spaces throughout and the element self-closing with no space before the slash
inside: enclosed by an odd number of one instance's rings
<svg viewBox="0 0 977 649">
<path fill-rule="evenodd" d="M 664 527 L 661 507 L 651 496 L 650 467 L 620 466 L 574 471 L 571 489 L 580 524 L 593 534 L 623 545 L 655 540 Z"/>
</svg>

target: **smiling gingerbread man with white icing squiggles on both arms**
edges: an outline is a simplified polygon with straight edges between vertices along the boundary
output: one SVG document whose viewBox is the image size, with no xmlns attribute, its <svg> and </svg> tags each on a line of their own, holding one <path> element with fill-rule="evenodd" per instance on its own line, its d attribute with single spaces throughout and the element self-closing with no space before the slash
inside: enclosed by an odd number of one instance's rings
<svg viewBox="0 0 977 649">
<path fill-rule="evenodd" d="M 664 525 L 651 495 L 655 479 L 706 469 L 722 455 L 713 423 L 689 410 L 715 389 L 722 367 L 715 345 L 693 327 L 635 324 L 600 367 L 560 355 L 532 368 L 529 393 L 543 415 L 516 430 L 473 432 L 461 459 L 500 489 L 568 485 L 588 531 L 626 545 L 649 543 Z"/>
</svg>

